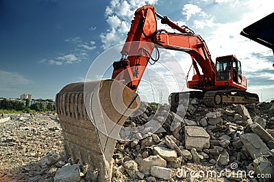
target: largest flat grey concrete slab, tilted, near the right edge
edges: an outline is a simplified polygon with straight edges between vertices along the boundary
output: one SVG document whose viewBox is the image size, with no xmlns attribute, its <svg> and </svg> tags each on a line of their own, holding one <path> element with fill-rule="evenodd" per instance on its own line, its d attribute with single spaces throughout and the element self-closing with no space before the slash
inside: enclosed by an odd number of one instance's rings
<svg viewBox="0 0 274 182">
<path fill-rule="evenodd" d="M 242 141 L 253 159 L 260 157 L 263 154 L 270 153 L 270 149 L 262 142 L 262 139 L 256 133 L 240 135 L 240 141 Z"/>
</svg>

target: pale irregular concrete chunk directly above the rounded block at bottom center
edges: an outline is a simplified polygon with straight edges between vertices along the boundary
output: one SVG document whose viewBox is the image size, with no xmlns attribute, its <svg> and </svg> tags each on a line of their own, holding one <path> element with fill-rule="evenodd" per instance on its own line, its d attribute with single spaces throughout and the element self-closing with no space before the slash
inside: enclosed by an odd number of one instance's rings
<svg viewBox="0 0 274 182">
<path fill-rule="evenodd" d="M 137 158 L 136 162 L 139 170 L 145 174 L 149 174 L 151 166 L 166 167 L 166 160 L 160 157 L 160 155 L 151 155 L 145 159 Z"/>
</svg>

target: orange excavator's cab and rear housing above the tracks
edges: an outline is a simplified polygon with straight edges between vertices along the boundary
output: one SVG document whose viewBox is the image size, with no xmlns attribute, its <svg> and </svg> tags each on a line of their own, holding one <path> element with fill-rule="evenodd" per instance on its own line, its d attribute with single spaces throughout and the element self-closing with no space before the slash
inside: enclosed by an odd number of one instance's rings
<svg viewBox="0 0 274 182">
<path fill-rule="evenodd" d="M 216 86 L 247 90 L 247 79 L 234 55 L 216 57 Z"/>
</svg>

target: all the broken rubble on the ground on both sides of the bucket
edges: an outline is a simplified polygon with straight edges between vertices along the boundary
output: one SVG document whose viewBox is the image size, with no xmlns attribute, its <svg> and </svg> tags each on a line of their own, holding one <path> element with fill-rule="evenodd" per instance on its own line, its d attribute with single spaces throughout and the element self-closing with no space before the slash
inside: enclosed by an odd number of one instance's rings
<svg viewBox="0 0 274 182">
<path fill-rule="evenodd" d="M 112 181 L 274 178 L 274 101 L 208 108 L 190 99 L 186 112 L 176 114 L 168 105 L 155 110 L 145 103 L 140 111 L 124 125 L 136 130 L 116 142 Z M 152 124 L 137 129 L 150 120 Z M 96 181 L 98 171 L 62 152 L 57 115 L 13 115 L 0 124 L 0 131 L 0 181 Z"/>
</svg>

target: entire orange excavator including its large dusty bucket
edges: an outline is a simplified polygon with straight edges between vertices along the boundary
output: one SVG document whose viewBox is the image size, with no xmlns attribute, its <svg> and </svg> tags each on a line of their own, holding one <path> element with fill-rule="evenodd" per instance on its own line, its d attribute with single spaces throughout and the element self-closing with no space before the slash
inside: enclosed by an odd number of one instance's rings
<svg viewBox="0 0 274 182">
<path fill-rule="evenodd" d="M 157 17 L 179 33 L 158 30 Z M 88 164 L 90 172 L 96 176 L 94 181 L 111 181 L 116 140 L 126 140 L 120 134 L 125 130 L 123 123 L 140 106 L 136 90 L 147 64 L 158 61 L 159 57 L 151 56 L 153 50 L 159 53 L 160 48 L 183 51 L 191 56 L 196 73 L 187 85 L 201 90 L 171 93 L 173 111 L 185 94 L 203 99 L 210 107 L 258 102 L 257 94 L 245 91 L 247 79 L 234 55 L 217 57 L 214 64 L 201 36 L 161 16 L 151 5 L 138 8 L 121 51 L 121 60 L 113 64 L 112 79 L 71 83 L 56 94 L 66 155 L 81 165 Z M 151 126 L 155 127 L 155 123 Z"/>
</svg>

